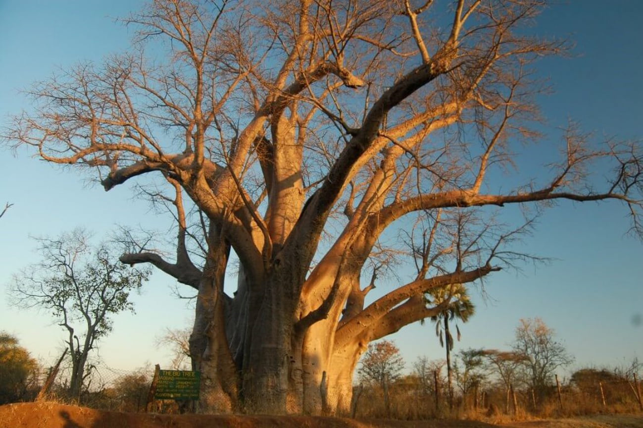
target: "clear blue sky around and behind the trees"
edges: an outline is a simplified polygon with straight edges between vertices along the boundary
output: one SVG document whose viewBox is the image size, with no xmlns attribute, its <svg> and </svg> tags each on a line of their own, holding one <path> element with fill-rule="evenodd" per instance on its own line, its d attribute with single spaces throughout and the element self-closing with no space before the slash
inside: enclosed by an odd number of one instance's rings
<svg viewBox="0 0 643 428">
<path fill-rule="evenodd" d="M 126 0 L 0 0 L 0 126 L 6 115 L 28 103 L 18 91 L 79 60 L 100 60 L 128 46 L 131 33 L 113 17 L 135 10 Z M 643 2 L 557 3 L 541 15 L 535 31 L 569 37 L 572 55 L 539 63 L 554 93 L 542 99 L 548 129 L 571 118 L 597 140 L 643 138 Z M 548 138 L 556 140 L 556 133 Z M 550 144 L 532 149 L 538 151 Z M 544 153 L 541 153 L 545 156 Z M 529 167 L 529 165 L 527 165 Z M 56 235 L 82 226 L 105 236 L 116 224 L 167 227 L 166 219 L 132 198 L 131 187 L 110 192 L 89 174 L 60 169 L 30 157 L 0 151 L 0 203 L 14 203 L 0 220 L 0 286 L 33 261 L 29 236 Z M 540 219 L 525 245 L 555 260 L 547 266 L 524 266 L 500 272 L 485 284 L 487 299 L 474 292 L 478 311 L 462 328 L 456 350 L 506 348 L 521 317 L 542 317 L 557 332 L 581 366 L 619 366 L 643 358 L 643 247 L 627 236 L 628 219 L 616 203 L 561 203 Z M 112 368 L 163 364 L 167 352 L 155 337 L 165 328 L 190 324 L 185 301 L 172 297 L 172 281 L 155 274 L 140 296 L 136 315 L 122 315 L 114 333 L 103 340 L 100 355 Z M 386 284 L 379 286 L 386 290 Z M 62 333 L 51 319 L 15 310 L 0 292 L 0 330 L 14 333 L 46 364 L 57 356 Z M 415 324 L 392 337 L 410 368 L 419 355 L 440 358 L 433 328 Z"/>
</svg>

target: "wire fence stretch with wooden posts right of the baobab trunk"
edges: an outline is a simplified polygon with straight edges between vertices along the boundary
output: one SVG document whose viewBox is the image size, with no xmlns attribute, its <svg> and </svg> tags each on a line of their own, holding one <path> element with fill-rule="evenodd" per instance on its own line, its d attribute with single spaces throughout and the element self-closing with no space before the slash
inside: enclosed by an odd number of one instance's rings
<svg viewBox="0 0 643 428">
<path fill-rule="evenodd" d="M 643 411 L 638 378 L 590 379 L 586 382 L 552 384 L 541 391 L 529 387 L 506 388 L 481 383 L 467 393 L 445 384 L 428 388 L 417 377 L 406 377 L 387 388 L 366 384 L 354 389 L 354 415 L 359 418 L 426 419 L 480 416 L 521 418 L 574 416 L 593 413 L 635 413 Z M 388 399 L 386 397 L 388 395 Z M 357 402 L 355 400 L 358 400 Z"/>
</svg>

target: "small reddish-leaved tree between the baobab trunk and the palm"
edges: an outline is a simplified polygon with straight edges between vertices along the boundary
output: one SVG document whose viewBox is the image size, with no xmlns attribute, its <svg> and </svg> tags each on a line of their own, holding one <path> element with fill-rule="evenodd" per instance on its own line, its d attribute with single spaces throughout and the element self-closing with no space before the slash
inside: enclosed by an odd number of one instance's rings
<svg viewBox="0 0 643 428">
<path fill-rule="evenodd" d="M 404 369 L 404 358 L 392 340 L 381 340 L 368 345 L 361 360 L 359 376 L 367 382 L 384 386 L 386 380 L 394 382 Z"/>
</svg>

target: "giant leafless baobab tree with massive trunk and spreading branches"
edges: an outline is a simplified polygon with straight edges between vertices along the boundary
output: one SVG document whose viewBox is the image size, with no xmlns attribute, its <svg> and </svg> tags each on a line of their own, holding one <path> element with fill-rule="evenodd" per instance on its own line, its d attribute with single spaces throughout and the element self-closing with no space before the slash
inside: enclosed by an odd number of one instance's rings
<svg viewBox="0 0 643 428">
<path fill-rule="evenodd" d="M 132 242 L 121 260 L 198 290 L 202 411 L 319 413 L 322 390 L 348 411 L 368 343 L 442 310 L 428 290 L 527 257 L 510 246 L 530 219 L 485 207 L 615 200 L 640 230 L 633 145 L 592 149 L 570 127 L 548 175 L 488 178 L 539 138 L 532 68 L 564 48 L 523 27 L 543 3 L 156 0 L 124 19 L 131 51 L 37 84 L 4 137 L 107 191 L 152 176 L 173 192 L 149 194 L 174 209 L 176 258 Z M 588 171 L 612 175 L 590 187 Z M 372 301 L 361 277 L 395 266 L 404 250 L 381 237 L 399 219 L 426 228 L 420 268 Z"/>
</svg>

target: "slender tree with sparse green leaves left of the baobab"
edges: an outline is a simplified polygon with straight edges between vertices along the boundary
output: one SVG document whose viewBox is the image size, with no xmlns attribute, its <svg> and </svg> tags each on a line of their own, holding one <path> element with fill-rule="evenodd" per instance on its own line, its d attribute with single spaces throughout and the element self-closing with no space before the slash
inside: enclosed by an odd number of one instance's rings
<svg viewBox="0 0 643 428">
<path fill-rule="evenodd" d="M 72 366 L 68 393 L 78 398 L 89 354 L 112 330 L 113 315 L 134 312 L 130 293 L 140 290 L 149 269 L 123 265 L 108 245 L 92 248 L 80 229 L 38 242 L 41 261 L 14 275 L 11 294 L 23 308 L 50 312 L 66 330 Z"/>
</svg>

